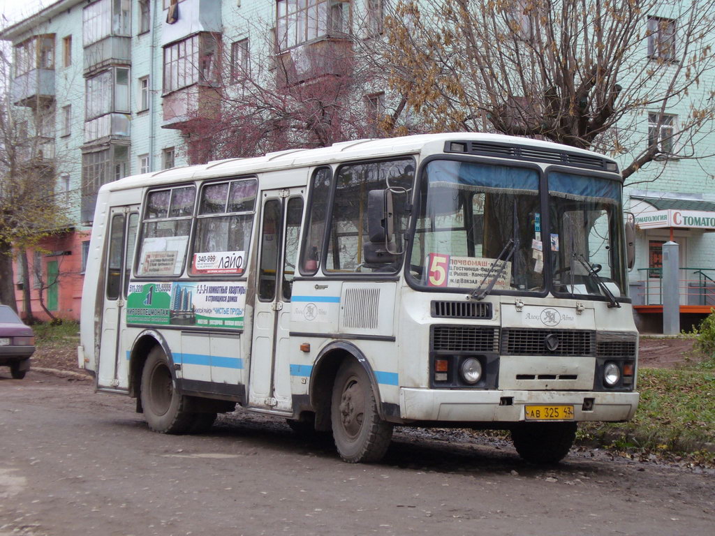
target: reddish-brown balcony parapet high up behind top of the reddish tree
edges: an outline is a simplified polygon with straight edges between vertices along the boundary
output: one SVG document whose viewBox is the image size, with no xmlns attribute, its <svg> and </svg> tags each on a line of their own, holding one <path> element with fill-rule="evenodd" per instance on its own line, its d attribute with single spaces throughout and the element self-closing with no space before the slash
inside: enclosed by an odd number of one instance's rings
<svg viewBox="0 0 715 536">
<path fill-rule="evenodd" d="M 279 87 L 324 76 L 345 76 L 353 70 L 349 39 L 327 38 L 282 51 L 276 56 Z"/>
</svg>

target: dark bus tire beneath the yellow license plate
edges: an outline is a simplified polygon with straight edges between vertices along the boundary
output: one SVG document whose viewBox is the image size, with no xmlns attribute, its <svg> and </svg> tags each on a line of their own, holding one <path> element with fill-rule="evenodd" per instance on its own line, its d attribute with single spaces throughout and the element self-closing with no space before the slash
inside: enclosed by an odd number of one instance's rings
<svg viewBox="0 0 715 536">
<path fill-rule="evenodd" d="M 555 464 L 563 460 L 576 439 L 576 422 L 530 422 L 511 430 L 511 440 L 524 460 Z"/>
</svg>

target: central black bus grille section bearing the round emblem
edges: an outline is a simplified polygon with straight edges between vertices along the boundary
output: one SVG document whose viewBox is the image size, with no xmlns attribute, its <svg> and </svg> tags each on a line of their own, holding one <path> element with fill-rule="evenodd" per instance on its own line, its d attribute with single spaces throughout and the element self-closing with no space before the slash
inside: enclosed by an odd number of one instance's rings
<svg viewBox="0 0 715 536">
<path fill-rule="evenodd" d="M 555 336 L 549 337 L 550 335 Z M 547 341 L 549 337 L 550 341 Z M 556 348 L 553 348 L 556 340 Z M 549 349 L 547 342 L 551 342 Z M 596 332 L 576 329 L 503 329 L 503 355 L 593 355 Z"/>
</svg>

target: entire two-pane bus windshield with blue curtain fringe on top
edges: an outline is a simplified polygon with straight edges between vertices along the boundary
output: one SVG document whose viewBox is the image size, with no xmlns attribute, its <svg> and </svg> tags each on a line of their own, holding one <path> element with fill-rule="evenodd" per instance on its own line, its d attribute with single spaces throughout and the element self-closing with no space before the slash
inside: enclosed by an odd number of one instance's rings
<svg viewBox="0 0 715 536">
<path fill-rule="evenodd" d="M 549 210 L 543 215 L 539 177 L 533 168 L 429 162 L 411 244 L 413 281 L 483 297 L 543 293 L 550 277 L 551 290 L 561 297 L 625 296 L 621 185 L 549 172 Z"/>
</svg>

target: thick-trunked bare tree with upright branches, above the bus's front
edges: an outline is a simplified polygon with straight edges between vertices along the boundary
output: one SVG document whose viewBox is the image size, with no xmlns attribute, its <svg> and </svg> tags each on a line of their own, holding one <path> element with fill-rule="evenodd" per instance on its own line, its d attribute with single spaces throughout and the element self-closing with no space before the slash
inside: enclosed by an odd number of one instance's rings
<svg viewBox="0 0 715 536">
<path fill-rule="evenodd" d="M 390 85 L 430 131 L 623 155 L 625 177 L 709 156 L 711 1 L 402 0 L 386 26 Z"/>
</svg>

